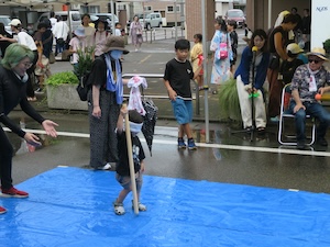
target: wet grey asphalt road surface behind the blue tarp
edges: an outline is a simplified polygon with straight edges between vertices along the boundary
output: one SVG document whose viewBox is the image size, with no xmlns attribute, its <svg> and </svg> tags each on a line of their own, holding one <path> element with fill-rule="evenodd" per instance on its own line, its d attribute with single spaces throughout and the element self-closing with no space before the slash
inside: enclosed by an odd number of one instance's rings
<svg viewBox="0 0 330 247">
<path fill-rule="evenodd" d="M 241 50 L 244 43 L 240 44 Z M 124 57 L 123 72 L 163 74 L 166 61 L 174 56 L 173 46 L 173 40 L 143 44 L 142 52 L 131 52 Z M 134 50 L 132 45 L 128 45 L 128 48 Z M 57 61 L 52 65 L 53 72 L 62 70 L 70 70 L 69 63 Z M 143 143 L 147 154 L 145 160 L 147 175 L 330 192 L 328 147 L 314 146 L 314 149 L 306 151 L 296 150 L 295 147 L 280 147 L 277 142 L 277 124 L 274 123 L 268 124 L 265 134 L 256 134 L 253 142 L 250 142 L 249 133 L 231 134 L 231 130 L 238 130 L 238 126 L 219 121 L 218 98 L 209 93 L 210 142 L 206 143 L 205 98 L 200 96 L 200 113 L 195 114 L 191 124 L 199 148 L 195 151 L 178 150 L 177 124 L 173 120 L 163 81 L 160 78 L 150 79 L 145 93 L 154 96 L 154 102 L 160 108 L 152 157 Z M 37 98 L 38 101 L 33 105 L 45 117 L 57 122 L 59 124 L 57 131 L 63 135 L 56 139 L 40 135 L 43 138 L 43 146 L 31 153 L 24 148 L 20 149 L 22 141 L 9 133 L 18 151 L 13 157 L 14 183 L 57 166 L 86 168 L 89 162 L 87 113 L 50 110 L 46 99 L 42 94 Z M 11 113 L 11 117 L 18 123 L 23 115 L 20 110 Z M 40 126 L 29 117 L 25 117 L 25 124 L 29 130 L 40 130 Z M 74 137 L 72 133 L 80 133 L 81 137 Z M 330 141 L 329 137 L 328 139 Z"/>
</svg>

